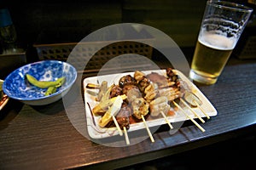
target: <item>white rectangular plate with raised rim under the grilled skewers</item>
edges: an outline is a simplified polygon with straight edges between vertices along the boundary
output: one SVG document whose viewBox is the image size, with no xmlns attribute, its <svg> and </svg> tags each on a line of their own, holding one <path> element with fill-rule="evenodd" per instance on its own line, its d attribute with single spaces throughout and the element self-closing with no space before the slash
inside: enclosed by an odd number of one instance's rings
<svg viewBox="0 0 256 170">
<path fill-rule="evenodd" d="M 144 74 L 149 74 L 151 72 L 157 72 L 162 75 L 166 75 L 166 70 L 155 70 L 155 71 L 143 71 Z M 183 75 L 181 71 L 177 71 L 177 75 L 189 85 L 189 88 L 191 91 L 202 101 L 201 108 L 207 113 L 208 116 L 216 116 L 217 111 L 214 108 L 214 106 L 211 104 L 211 102 L 207 99 L 207 97 L 201 93 L 201 91 L 193 84 L 193 82 L 190 82 L 187 77 Z M 106 76 L 98 76 L 98 77 L 88 77 L 84 79 L 83 82 L 83 88 L 84 88 L 84 104 L 85 104 L 85 114 L 86 114 L 86 122 L 87 122 L 87 128 L 88 133 L 91 138 L 93 139 L 103 139 L 108 138 L 114 135 L 119 135 L 119 132 L 116 127 L 99 127 L 98 122 L 102 116 L 95 116 L 92 114 L 91 110 L 98 104 L 96 102 L 96 96 L 92 95 L 92 93 L 97 93 L 98 89 L 87 89 L 86 85 L 88 83 L 102 83 L 102 81 L 107 81 L 108 86 L 111 84 L 118 84 L 119 79 L 121 77 L 124 77 L 126 75 L 131 75 L 133 77 L 134 72 L 125 72 L 120 74 L 111 74 Z M 205 117 L 205 114 L 201 112 L 199 108 L 192 108 L 199 116 Z M 189 109 L 185 110 L 190 117 L 196 118 L 195 114 L 192 111 L 189 111 Z M 183 114 L 181 111 L 176 111 L 176 114 L 174 116 L 167 116 L 169 122 L 181 122 L 189 120 L 187 116 Z M 146 120 L 147 121 L 147 120 Z M 160 126 L 162 124 L 166 124 L 166 120 L 164 118 L 158 118 L 154 120 L 147 121 L 148 127 L 155 127 Z M 143 129 L 144 124 L 143 122 L 137 122 L 130 124 L 130 129 L 127 131 L 128 133 L 132 131 L 136 131 L 139 129 Z"/>
</svg>

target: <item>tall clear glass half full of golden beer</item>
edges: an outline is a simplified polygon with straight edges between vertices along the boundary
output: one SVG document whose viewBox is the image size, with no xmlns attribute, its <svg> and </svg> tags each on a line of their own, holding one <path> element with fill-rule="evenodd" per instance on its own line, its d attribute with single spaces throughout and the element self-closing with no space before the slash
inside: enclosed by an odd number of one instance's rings
<svg viewBox="0 0 256 170">
<path fill-rule="evenodd" d="M 189 77 L 214 84 L 230 58 L 253 8 L 224 1 L 207 1 Z"/>
</svg>

